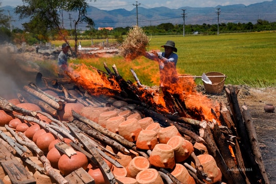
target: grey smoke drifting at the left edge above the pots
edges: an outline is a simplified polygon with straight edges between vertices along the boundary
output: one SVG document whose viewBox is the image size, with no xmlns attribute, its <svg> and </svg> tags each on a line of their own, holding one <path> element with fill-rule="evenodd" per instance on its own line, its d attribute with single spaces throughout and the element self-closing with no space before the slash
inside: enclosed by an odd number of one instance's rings
<svg viewBox="0 0 276 184">
<path fill-rule="evenodd" d="M 35 81 L 39 66 L 25 61 L 20 54 L 8 53 L 6 48 L 0 49 L 0 97 L 7 100 L 17 98 L 18 90 Z"/>
</svg>

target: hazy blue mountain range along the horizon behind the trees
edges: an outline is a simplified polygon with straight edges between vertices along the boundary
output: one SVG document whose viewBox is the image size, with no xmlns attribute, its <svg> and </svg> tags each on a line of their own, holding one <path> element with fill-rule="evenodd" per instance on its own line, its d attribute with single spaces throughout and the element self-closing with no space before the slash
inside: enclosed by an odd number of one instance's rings
<svg viewBox="0 0 276 184">
<path fill-rule="evenodd" d="M 4 6 L 0 9 L 4 10 L 4 14 L 11 17 L 13 28 L 22 29 L 22 23 L 28 19 L 19 19 L 14 13 L 15 7 Z M 276 21 L 276 0 L 265 1 L 262 3 L 251 4 L 245 6 L 243 4 L 216 6 L 216 7 L 181 7 L 178 9 L 170 9 L 166 7 L 158 8 L 133 8 L 130 11 L 125 9 L 101 10 L 90 6 L 87 9 L 87 15 L 95 22 L 95 28 L 99 27 L 131 27 L 137 24 L 143 26 L 156 26 L 163 23 L 172 23 L 173 25 L 202 25 L 202 24 L 219 24 L 228 22 L 256 24 L 258 19 L 267 20 L 269 22 Z M 74 13 L 63 13 L 63 26 L 70 29 L 73 25 L 74 18 L 77 17 Z M 71 24 L 70 24 L 71 23 Z M 86 25 L 80 24 L 78 29 L 85 30 Z"/>
</svg>

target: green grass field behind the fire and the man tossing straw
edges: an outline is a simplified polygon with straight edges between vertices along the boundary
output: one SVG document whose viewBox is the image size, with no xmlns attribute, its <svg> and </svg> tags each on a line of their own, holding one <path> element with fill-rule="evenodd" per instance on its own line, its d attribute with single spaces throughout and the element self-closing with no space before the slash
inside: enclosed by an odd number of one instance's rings
<svg viewBox="0 0 276 184">
<path fill-rule="evenodd" d="M 201 76 L 220 72 L 227 76 L 225 84 L 246 84 L 252 87 L 276 86 L 276 32 L 237 33 L 220 35 L 152 36 L 148 50 L 162 50 L 167 40 L 175 41 L 178 49 L 179 74 Z M 109 40 L 112 42 L 112 40 Z M 114 41 L 114 40 L 113 40 Z M 97 40 L 95 40 L 97 42 Z M 99 40 L 102 42 L 102 40 Z M 73 41 L 72 41 L 73 43 Z M 90 45 L 82 40 L 82 46 Z M 59 43 L 56 43 L 59 44 Z M 124 79 L 134 81 L 133 68 L 142 84 L 158 85 L 158 66 L 154 61 L 139 57 L 128 61 L 123 57 L 73 60 L 74 63 L 93 65 L 105 71 L 116 64 Z M 202 84 L 201 79 L 196 83 Z"/>
</svg>

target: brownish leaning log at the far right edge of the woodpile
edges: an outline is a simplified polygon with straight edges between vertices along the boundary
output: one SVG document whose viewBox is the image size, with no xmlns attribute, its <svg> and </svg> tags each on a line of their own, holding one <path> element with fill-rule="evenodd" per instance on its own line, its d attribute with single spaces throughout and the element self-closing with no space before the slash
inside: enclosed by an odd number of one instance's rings
<svg viewBox="0 0 276 184">
<path fill-rule="evenodd" d="M 259 168 L 261 170 L 261 173 L 263 175 L 264 183 L 270 183 L 268 176 L 266 174 L 265 165 L 263 162 L 262 153 L 260 150 L 260 145 L 258 142 L 257 133 L 255 131 L 254 123 L 252 121 L 252 118 L 249 113 L 249 109 L 246 105 L 242 106 L 242 114 L 245 122 L 245 127 L 248 132 L 248 137 L 250 140 L 250 145 L 252 149 L 252 153 L 254 154 L 255 160 L 259 165 Z"/>
</svg>

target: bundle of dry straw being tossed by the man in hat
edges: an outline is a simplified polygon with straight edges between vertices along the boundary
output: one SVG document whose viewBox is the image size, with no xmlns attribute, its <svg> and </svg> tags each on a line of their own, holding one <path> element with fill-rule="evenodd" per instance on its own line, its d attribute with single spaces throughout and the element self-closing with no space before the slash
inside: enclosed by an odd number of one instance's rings
<svg viewBox="0 0 276 184">
<path fill-rule="evenodd" d="M 122 43 L 121 55 L 125 58 L 134 59 L 143 55 L 149 44 L 149 38 L 142 28 L 133 26 Z"/>
</svg>

